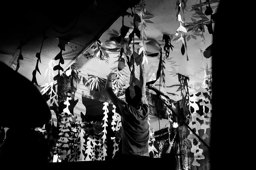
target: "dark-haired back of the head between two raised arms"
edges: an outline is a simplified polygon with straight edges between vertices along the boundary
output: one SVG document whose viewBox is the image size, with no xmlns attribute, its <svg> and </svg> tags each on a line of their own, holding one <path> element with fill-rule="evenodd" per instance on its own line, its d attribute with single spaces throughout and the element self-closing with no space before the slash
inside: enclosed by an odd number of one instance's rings
<svg viewBox="0 0 256 170">
<path fill-rule="evenodd" d="M 137 107 L 140 104 L 142 92 L 138 85 L 134 86 L 135 96 L 132 98 L 130 95 L 130 86 L 125 90 L 125 101 L 132 107 Z"/>
</svg>

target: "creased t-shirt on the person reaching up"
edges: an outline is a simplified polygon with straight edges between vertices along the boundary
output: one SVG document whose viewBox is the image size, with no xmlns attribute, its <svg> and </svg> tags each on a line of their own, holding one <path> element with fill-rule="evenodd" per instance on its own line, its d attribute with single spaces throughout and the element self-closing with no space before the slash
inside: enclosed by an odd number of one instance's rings
<svg viewBox="0 0 256 170">
<path fill-rule="evenodd" d="M 139 88 L 135 86 L 135 88 Z M 139 108 L 118 99 L 116 112 L 119 113 L 122 121 L 122 150 L 124 154 L 148 155 L 148 101 L 143 94 Z"/>
</svg>

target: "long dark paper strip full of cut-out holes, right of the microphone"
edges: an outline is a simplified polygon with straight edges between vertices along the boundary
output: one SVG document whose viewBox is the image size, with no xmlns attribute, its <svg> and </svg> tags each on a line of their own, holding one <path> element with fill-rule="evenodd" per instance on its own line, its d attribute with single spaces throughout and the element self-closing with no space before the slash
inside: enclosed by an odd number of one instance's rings
<svg viewBox="0 0 256 170">
<path fill-rule="evenodd" d="M 178 73 L 178 78 L 180 82 L 180 92 L 182 96 L 181 103 L 182 103 L 184 115 L 187 119 L 191 120 L 191 113 L 189 110 L 189 93 L 188 93 L 189 78 L 181 75 L 180 73 Z"/>
</svg>

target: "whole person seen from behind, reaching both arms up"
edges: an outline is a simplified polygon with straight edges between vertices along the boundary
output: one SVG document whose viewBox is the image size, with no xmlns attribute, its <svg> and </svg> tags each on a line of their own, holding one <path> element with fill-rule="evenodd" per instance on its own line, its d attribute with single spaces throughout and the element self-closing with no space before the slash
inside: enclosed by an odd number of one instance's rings
<svg viewBox="0 0 256 170">
<path fill-rule="evenodd" d="M 118 99 L 112 91 L 111 81 L 115 78 L 114 73 L 108 75 L 105 91 L 116 106 L 116 112 L 121 115 L 123 159 L 149 158 L 149 106 L 144 66 L 140 63 L 140 87 L 134 85 L 126 89 L 126 102 Z"/>
</svg>

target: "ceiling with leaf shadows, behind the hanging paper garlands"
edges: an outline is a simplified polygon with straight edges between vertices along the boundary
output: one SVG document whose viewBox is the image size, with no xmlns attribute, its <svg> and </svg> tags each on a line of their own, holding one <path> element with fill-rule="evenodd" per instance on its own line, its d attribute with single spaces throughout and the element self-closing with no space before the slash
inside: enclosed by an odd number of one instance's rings
<svg viewBox="0 0 256 170">
<path fill-rule="evenodd" d="M 218 2 L 211 0 L 211 6 L 213 13 L 217 9 Z M 97 2 L 97 5 L 94 3 Z M 169 34 L 175 36 L 177 28 L 180 26 L 180 22 L 176 20 L 177 0 L 147 0 L 146 3 L 146 16 L 144 20 L 147 22 L 147 40 L 156 41 L 157 44 L 164 49 L 164 41 L 162 41 L 163 34 Z M 106 78 L 111 68 L 117 66 L 114 63 L 117 60 L 119 54 L 118 51 L 108 50 L 109 63 L 100 61 L 97 57 L 87 59 L 84 54 L 86 50 L 95 43 L 97 39 L 101 41 L 101 47 L 115 48 L 115 45 L 111 44 L 111 37 L 116 33 L 120 33 L 122 26 L 121 13 L 125 9 L 127 12 L 131 12 L 129 6 L 132 1 L 88 1 L 86 5 L 66 5 L 66 8 L 58 8 L 57 6 L 47 8 L 42 7 L 33 8 L 28 10 L 26 8 L 6 9 L 2 11 L 1 15 L 11 12 L 12 17 L 6 17 L 2 22 L 5 23 L 4 30 L 1 30 L 0 37 L 0 61 L 6 63 L 8 66 L 15 68 L 17 64 L 17 58 L 19 50 L 17 50 L 20 42 L 25 44 L 22 48 L 22 55 L 24 60 L 20 60 L 20 68 L 18 70 L 26 78 L 32 80 L 32 72 L 36 66 L 36 53 L 40 51 L 42 44 L 42 31 L 45 30 L 47 39 L 44 40 L 41 62 L 38 64 L 40 74 L 36 74 L 37 82 L 39 85 L 48 83 L 48 79 L 44 78 L 44 72 L 48 68 L 48 63 L 51 59 L 60 52 L 58 48 L 59 40 L 57 37 L 66 37 L 69 39 L 69 43 L 65 47 L 65 51 L 62 52 L 64 58 L 64 65 L 62 67 L 68 69 L 71 67 L 82 71 L 83 73 L 92 74 L 102 78 Z M 204 4 L 204 1 L 202 2 Z M 192 10 L 192 5 L 199 4 L 198 0 L 187 1 L 187 11 L 184 11 L 184 18 L 187 23 L 192 22 L 192 16 L 195 11 Z M 17 5 L 18 6 L 18 5 Z M 134 4 L 132 5 L 134 6 Z M 202 11 L 205 11 L 205 5 Z M 138 12 L 135 10 L 135 12 Z M 183 12 L 181 12 L 183 18 Z M 209 17 L 208 17 L 209 18 Z M 124 25 L 129 26 L 130 30 L 125 38 L 128 38 L 129 33 L 133 29 L 133 18 L 130 16 L 124 17 Z M 186 24 L 185 22 L 185 24 Z M 214 24 L 213 24 L 214 26 Z M 67 31 L 69 30 L 70 31 Z M 67 33 L 63 33 L 66 32 Z M 60 33 L 62 32 L 62 33 Z M 114 34 L 113 34 L 114 33 Z M 186 33 L 192 34 L 191 32 Z M 135 36 L 136 37 L 136 36 Z M 206 59 L 202 56 L 208 46 L 212 44 L 212 35 L 208 33 L 205 27 L 204 41 L 200 36 L 196 37 L 196 40 L 190 38 L 187 41 L 187 54 L 181 54 L 180 48 L 182 43 L 176 43 L 171 40 L 174 46 L 173 51 L 170 50 L 169 58 L 166 60 L 163 50 L 163 59 L 165 60 L 165 85 L 163 91 L 174 93 L 170 95 L 173 100 L 180 100 L 180 91 L 177 91 L 180 85 L 178 76 L 176 73 L 180 73 L 189 77 L 189 86 L 191 89 L 200 88 L 204 81 L 204 67 L 208 65 L 208 68 L 212 66 L 212 57 Z M 135 39 L 139 41 L 139 39 Z M 148 46 L 148 51 L 159 51 L 158 47 Z M 158 68 L 159 56 L 149 57 L 148 65 L 145 64 L 145 70 L 147 74 L 147 81 L 153 80 Z M 57 61 L 55 61 L 58 64 Z M 112 64 L 114 63 L 114 64 Z M 139 73 L 139 68 L 135 70 Z M 159 84 L 159 80 L 155 83 Z M 172 87 L 168 87 L 172 86 Z M 205 87 L 204 87 L 205 88 Z"/>
</svg>

